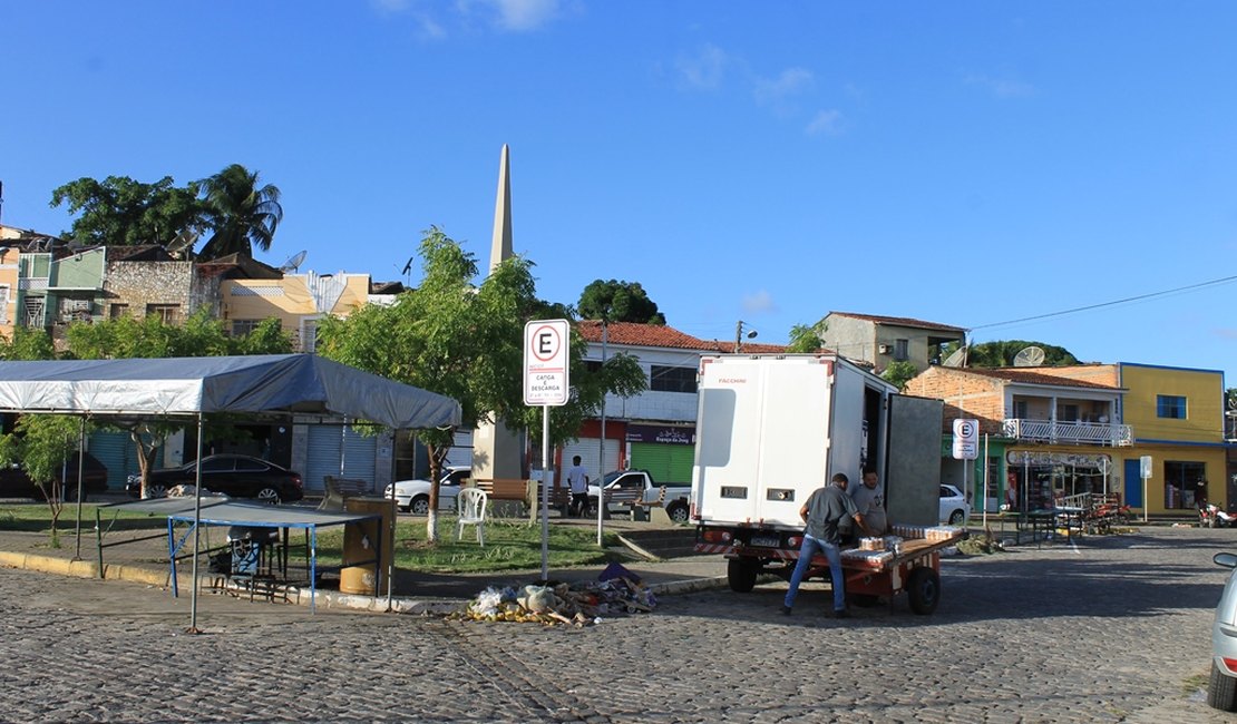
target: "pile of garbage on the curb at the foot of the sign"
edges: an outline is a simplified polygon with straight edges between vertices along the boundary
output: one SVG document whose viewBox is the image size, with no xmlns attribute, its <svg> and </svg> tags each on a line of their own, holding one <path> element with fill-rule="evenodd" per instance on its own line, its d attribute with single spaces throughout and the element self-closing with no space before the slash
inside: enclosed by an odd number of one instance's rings
<svg viewBox="0 0 1237 724">
<path fill-rule="evenodd" d="M 586 626 L 606 617 L 648 613 L 656 607 L 657 598 L 638 576 L 611 563 L 595 582 L 491 586 L 450 618 Z"/>
</svg>

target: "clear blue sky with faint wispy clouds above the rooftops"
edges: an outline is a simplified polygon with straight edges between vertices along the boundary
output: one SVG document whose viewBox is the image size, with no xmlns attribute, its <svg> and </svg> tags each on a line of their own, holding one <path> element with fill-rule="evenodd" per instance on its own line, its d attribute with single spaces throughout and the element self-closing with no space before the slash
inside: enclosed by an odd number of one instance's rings
<svg viewBox="0 0 1237 724">
<path fill-rule="evenodd" d="M 283 193 L 268 255 L 403 279 L 489 258 L 500 149 L 538 293 L 641 282 L 760 341 L 830 310 L 1226 371 L 1237 5 L 4 2 L 0 221 L 80 177 Z M 416 276 L 407 279 L 416 283 Z"/>
</svg>

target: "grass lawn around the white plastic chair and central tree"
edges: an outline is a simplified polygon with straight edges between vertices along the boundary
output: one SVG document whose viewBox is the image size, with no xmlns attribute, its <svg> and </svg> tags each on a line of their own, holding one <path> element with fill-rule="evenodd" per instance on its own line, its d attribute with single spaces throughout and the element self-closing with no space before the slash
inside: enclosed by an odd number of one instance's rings
<svg viewBox="0 0 1237 724">
<path fill-rule="evenodd" d="M 596 530 L 576 525 L 550 525 L 547 557 L 549 565 L 586 566 L 614 558 L 605 549 L 618 545 L 617 536 L 605 534 L 605 546 L 597 546 Z M 303 560 L 303 550 L 294 547 L 292 558 Z M 330 528 L 318 534 L 318 560 L 338 566 L 343 560 L 344 530 Z M 401 519 L 395 530 L 395 565 L 397 568 L 427 573 L 474 573 L 516 571 L 541 567 L 541 524 L 527 521 L 486 520 L 485 546 L 476 542 L 473 526 L 464 529 L 464 540 L 455 540 L 455 516 L 438 516 L 438 541 L 429 542 L 426 520 Z"/>
</svg>

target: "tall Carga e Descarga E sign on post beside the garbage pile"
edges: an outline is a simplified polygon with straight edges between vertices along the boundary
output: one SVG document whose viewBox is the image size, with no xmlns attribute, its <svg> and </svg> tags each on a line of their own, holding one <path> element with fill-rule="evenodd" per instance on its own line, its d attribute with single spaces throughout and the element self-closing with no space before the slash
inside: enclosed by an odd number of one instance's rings
<svg viewBox="0 0 1237 724">
<path fill-rule="evenodd" d="M 542 405 L 542 581 L 549 579 L 549 409 L 565 405 L 570 397 L 570 334 L 565 319 L 524 325 L 524 404 Z"/>
</svg>

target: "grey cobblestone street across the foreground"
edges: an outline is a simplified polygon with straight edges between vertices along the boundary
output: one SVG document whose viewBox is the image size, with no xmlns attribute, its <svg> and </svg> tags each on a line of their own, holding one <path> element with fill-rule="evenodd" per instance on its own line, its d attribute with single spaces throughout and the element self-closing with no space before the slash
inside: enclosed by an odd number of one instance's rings
<svg viewBox="0 0 1237 724">
<path fill-rule="evenodd" d="M 1230 722 L 1207 708 L 1230 530 L 943 563 L 935 615 L 825 618 L 805 584 L 663 597 L 586 629 L 187 598 L 0 570 L 0 719 Z"/>
</svg>

